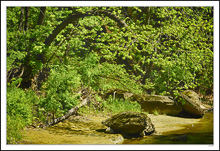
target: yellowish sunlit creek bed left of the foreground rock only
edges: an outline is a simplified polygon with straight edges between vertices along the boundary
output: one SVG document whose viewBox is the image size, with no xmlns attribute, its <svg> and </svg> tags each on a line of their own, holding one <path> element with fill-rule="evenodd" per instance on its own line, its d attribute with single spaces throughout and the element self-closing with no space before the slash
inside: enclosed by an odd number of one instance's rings
<svg viewBox="0 0 220 151">
<path fill-rule="evenodd" d="M 26 129 L 20 144 L 117 144 L 120 134 L 106 134 L 103 117 L 71 117 L 47 129 Z"/>
</svg>

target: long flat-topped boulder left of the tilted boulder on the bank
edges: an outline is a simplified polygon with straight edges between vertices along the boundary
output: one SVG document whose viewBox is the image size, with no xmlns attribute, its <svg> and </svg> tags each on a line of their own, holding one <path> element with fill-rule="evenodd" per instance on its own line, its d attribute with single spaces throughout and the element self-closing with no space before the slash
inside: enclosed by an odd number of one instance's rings
<svg viewBox="0 0 220 151">
<path fill-rule="evenodd" d="M 141 104 L 141 108 L 152 114 L 178 115 L 182 111 L 180 104 L 172 100 L 168 96 L 161 95 L 133 95 L 133 100 Z"/>
</svg>

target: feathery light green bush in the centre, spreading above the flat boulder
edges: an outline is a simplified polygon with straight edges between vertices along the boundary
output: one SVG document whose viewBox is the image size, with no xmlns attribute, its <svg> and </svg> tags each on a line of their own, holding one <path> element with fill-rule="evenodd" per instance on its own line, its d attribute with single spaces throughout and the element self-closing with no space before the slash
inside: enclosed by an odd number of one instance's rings
<svg viewBox="0 0 220 151">
<path fill-rule="evenodd" d="M 95 91 L 105 92 L 109 89 L 129 90 L 134 93 L 141 93 L 141 86 L 137 85 L 138 77 L 129 75 L 124 65 L 99 63 L 100 57 L 97 53 L 89 53 L 88 56 L 79 62 L 76 68 L 81 75 L 85 86 Z M 135 79 L 136 78 L 136 79 Z"/>
</svg>

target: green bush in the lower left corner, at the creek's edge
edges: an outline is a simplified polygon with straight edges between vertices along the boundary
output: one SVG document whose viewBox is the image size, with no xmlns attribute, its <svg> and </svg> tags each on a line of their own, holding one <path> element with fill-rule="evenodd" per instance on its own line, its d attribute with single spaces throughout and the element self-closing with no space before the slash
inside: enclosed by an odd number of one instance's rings
<svg viewBox="0 0 220 151">
<path fill-rule="evenodd" d="M 23 128 L 32 123 L 33 104 L 37 97 L 15 87 L 7 88 L 7 143 L 14 144 L 22 139 Z"/>
</svg>

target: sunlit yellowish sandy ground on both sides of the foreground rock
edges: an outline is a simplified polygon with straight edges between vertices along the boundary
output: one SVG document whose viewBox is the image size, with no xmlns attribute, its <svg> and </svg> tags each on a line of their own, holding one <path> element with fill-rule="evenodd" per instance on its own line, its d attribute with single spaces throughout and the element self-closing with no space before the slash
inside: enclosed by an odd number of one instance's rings
<svg viewBox="0 0 220 151">
<path fill-rule="evenodd" d="M 198 118 L 182 118 L 167 115 L 148 114 L 155 126 L 154 135 L 163 135 L 185 129 L 186 125 L 199 123 Z M 103 116 L 71 116 L 46 129 L 27 128 L 26 137 L 20 144 L 121 144 L 120 134 L 105 133 L 106 127 L 101 121 Z M 147 137 L 147 136 L 145 136 Z"/>
</svg>

